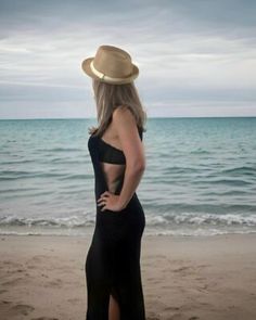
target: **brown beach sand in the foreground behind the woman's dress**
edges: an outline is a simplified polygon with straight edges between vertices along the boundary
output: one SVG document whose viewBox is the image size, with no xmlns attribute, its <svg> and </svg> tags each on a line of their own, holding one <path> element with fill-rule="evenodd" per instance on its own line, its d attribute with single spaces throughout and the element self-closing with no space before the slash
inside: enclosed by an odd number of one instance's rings
<svg viewBox="0 0 256 320">
<path fill-rule="evenodd" d="M 85 320 L 90 241 L 1 235 L 0 319 Z M 146 319 L 256 319 L 256 234 L 144 234 L 141 245 Z"/>
</svg>

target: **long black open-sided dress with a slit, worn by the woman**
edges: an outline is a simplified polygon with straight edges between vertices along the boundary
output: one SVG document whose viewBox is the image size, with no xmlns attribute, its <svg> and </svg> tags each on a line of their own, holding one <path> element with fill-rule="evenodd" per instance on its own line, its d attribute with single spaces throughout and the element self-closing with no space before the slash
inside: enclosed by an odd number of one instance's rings
<svg viewBox="0 0 256 320">
<path fill-rule="evenodd" d="M 142 130 L 138 127 L 142 140 Z M 88 150 L 94 170 L 95 202 L 108 190 L 101 163 L 125 164 L 121 150 L 91 135 Z M 125 168 L 125 166 L 123 166 Z M 124 172 L 116 188 L 119 194 Z M 119 210 L 101 210 L 97 206 L 95 228 L 87 254 L 87 320 L 108 320 L 110 294 L 118 302 L 120 320 L 145 320 L 141 281 L 141 236 L 145 216 L 140 201 L 133 193 L 128 205 Z"/>
</svg>

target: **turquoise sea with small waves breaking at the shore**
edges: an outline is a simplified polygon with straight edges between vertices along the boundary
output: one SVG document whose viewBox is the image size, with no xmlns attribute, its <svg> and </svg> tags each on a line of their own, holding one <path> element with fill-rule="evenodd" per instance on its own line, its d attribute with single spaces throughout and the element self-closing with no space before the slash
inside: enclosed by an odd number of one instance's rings
<svg viewBox="0 0 256 320">
<path fill-rule="evenodd" d="M 1 234 L 92 234 L 95 124 L 0 120 Z M 256 231 L 256 118 L 150 118 L 146 129 L 145 233 Z"/>
</svg>

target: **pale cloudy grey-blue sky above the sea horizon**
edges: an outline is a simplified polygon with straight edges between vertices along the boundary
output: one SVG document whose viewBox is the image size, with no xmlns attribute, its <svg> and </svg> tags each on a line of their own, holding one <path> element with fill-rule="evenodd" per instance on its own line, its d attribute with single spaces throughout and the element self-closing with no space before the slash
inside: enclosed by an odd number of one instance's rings
<svg viewBox="0 0 256 320">
<path fill-rule="evenodd" d="M 95 117 L 81 62 L 126 50 L 148 117 L 256 116 L 256 1 L 0 0 L 0 119 Z"/>
</svg>

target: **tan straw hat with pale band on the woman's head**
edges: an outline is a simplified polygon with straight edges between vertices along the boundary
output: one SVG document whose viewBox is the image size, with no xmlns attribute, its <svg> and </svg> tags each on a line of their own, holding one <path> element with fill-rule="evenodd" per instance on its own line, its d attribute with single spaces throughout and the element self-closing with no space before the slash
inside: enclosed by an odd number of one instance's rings
<svg viewBox="0 0 256 320">
<path fill-rule="evenodd" d="M 113 46 L 99 47 L 95 56 L 82 61 L 81 68 L 88 76 L 112 85 L 129 84 L 139 75 L 129 53 Z"/>
</svg>

